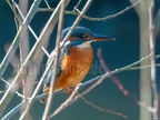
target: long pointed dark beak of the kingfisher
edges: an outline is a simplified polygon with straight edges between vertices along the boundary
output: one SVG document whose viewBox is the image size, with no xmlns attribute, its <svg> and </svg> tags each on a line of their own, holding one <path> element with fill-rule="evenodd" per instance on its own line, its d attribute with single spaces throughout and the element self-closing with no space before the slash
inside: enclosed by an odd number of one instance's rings
<svg viewBox="0 0 160 120">
<path fill-rule="evenodd" d="M 103 40 L 116 40 L 116 38 L 111 38 L 111 37 L 108 37 L 108 36 L 102 36 L 102 34 L 97 34 L 97 33 L 93 33 L 89 40 L 93 40 L 93 41 L 103 41 Z"/>
</svg>

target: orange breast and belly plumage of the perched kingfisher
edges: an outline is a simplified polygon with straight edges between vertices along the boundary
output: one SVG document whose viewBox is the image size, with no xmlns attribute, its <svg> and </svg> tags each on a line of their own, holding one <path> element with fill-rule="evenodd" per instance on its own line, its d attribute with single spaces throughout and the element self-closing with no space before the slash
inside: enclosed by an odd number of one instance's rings
<svg viewBox="0 0 160 120">
<path fill-rule="evenodd" d="M 62 59 L 62 72 L 56 80 L 54 90 L 76 87 L 88 74 L 93 60 L 91 47 L 69 48 L 69 56 Z"/>
</svg>

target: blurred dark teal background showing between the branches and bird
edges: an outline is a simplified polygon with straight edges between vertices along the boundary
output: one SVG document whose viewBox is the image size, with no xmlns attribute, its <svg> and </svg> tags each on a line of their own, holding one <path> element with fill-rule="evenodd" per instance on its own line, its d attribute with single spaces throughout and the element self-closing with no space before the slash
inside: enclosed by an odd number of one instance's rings
<svg viewBox="0 0 160 120">
<path fill-rule="evenodd" d="M 59 0 L 48 0 L 49 4 L 52 8 L 56 8 Z M 77 4 L 78 0 L 71 0 L 67 10 L 72 10 Z M 31 6 L 32 0 L 29 2 L 29 7 Z M 82 1 L 79 9 L 81 10 L 86 1 Z M 113 13 L 117 13 L 124 9 L 126 7 L 131 6 L 128 0 L 93 0 L 91 7 L 86 13 L 89 17 L 107 17 Z M 44 1 L 42 0 L 40 7 L 46 7 Z M 154 0 L 154 17 L 160 16 L 160 0 Z M 42 28 L 44 27 L 47 20 L 49 19 L 51 12 L 38 12 L 30 26 L 37 33 L 40 34 Z M 14 23 L 14 14 L 11 11 L 8 3 L 3 0 L 0 1 L 0 61 L 2 61 L 6 51 L 4 47 L 8 43 L 11 43 L 16 33 L 16 23 Z M 70 27 L 77 16 L 66 14 L 63 28 Z M 160 21 L 160 19 L 159 19 Z M 108 64 L 110 70 L 114 70 L 124 66 L 128 66 L 140 59 L 140 22 L 138 13 L 134 9 L 130 9 L 123 14 L 118 16 L 117 18 L 109 19 L 107 21 L 89 21 L 82 19 L 79 26 L 87 27 L 91 29 L 96 33 L 107 34 L 116 38 L 116 41 L 108 42 L 99 42 L 92 43 L 94 49 L 94 61 L 93 66 L 100 67 L 100 62 L 97 57 L 97 50 L 101 48 L 102 57 L 104 62 Z M 57 28 L 52 32 L 49 41 L 49 46 L 47 48 L 50 53 L 54 49 L 56 41 L 56 32 Z M 29 33 L 29 44 L 30 49 L 36 42 L 34 38 Z M 160 54 L 160 33 L 156 37 L 156 54 Z M 17 52 L 19 56 L 19 52 Z M 42 64 L 46 64 L 47 57 L 42 61 Z M 160 60 L 157 60 L 157 63 Z M 96 71 L 96 70 L 94 70 Z M 96 72 L 90 72 L 84 81 L 94 78 L 99 74 L 104 73 L 98 70 Z M 42 70 L 40 70 L 38 79 L 41 77 Z M 160 92 L 160 68 L 157 68 L 157 86 L 158 91 Z M 13 69 L 11 66 L 7 69 L 3 78 L 10 79 L 13 76 Z M 110 79 L 106 79 L 100 86 L 94 88 L 90 93 L 84 96 L 84 98 L 94 104 L 102 107 L 104 109 L 109 109 L 116 112 L 120 112 L 128 117 L 128 120 L 139 120 L 140 107 L 137 104 L 136 99 L 139 99 L 139 81 L 140 81 L 140 71 L 124 71 L 118 74 L 114 74 L 122 86 L 128 90 L 131 96 L 136 98 L 126 97 L 118 89 L 118 87 Z M 38 80 L 37 80 L 38 81 Z M 0 81 L 0 90 L 3 91 L 6 89 L 6 84 Z M 84 89 L 82 89 L 84 90 Z M 40 91 L 42 93 L 42 90 Z M 0 98 L 2 94 L 0 94 Z M 54 102 L 52 106 L 53 111 L 57 107 L 59 107 L 69 96 L 68 94 L 58 94 L 54 97 Z M 17 96 L 12 99 L 12 103 L 8 107 L 4 114 L 20 103 L 21 99 Z M 30 114 L 33 120 L 40 120 L 43 113 L 46 104 L 40 103 L 39 101 L 34 102 Z M 12 120 L 17 120 L 19 114 L 13 117 Z M 87 104 L 82 99 L 79 99 L 77 102 L 71 104 L 69 108 L 60 112 L 54 117 L 54 120 L 124 120 L 122 117 L 99 111 L 91 106 Z"/>
</svg>

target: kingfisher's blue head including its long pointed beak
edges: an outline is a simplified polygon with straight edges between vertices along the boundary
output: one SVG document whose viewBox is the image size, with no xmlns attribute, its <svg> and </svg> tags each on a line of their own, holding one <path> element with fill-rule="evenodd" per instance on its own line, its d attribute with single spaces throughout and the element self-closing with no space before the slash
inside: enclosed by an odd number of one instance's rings
<svg viewBox="0 0 160 120">
<path fill-rule="evenodd" d="M 66 37 L 68 31 L 70 30 L 70 27 L 66 28 L 61 32 L 61 39 Z M 103 40 L 114 40 L 114 38 L 97 34 L 93 33 L 90 29 L 84 27 L 76 27 L 69 37 L 69 42 L 76 44 L 81 44 L 84 42 L 93 42 L 93 41 L 103 41 Z"/>
</svg>

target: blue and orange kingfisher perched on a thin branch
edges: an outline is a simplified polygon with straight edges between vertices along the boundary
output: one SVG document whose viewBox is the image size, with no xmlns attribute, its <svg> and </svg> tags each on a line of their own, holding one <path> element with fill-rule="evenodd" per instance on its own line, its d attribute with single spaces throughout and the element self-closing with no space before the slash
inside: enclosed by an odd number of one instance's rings
<svg viewBox="0 0 160 120">
<path fill-rule="evenodd" d="M 71 27 L 61 31 L 63 39 Z M 53 91 L 66 89 L 67 93 L 71 88 L 77 87 L 88 74 L 93 62 L 92 42 L 114 40 L 112 37 L 93 33 L 89 28 L 77 26 L 64 46 L 60 50 L 57 66 L 57 79 Z M 51 82 L 52 71 L 49 70 L 43 80 L 43 92 L 48 93 Z M 41 99 L 46 102 L 47 98 Z"/>
</svg>

